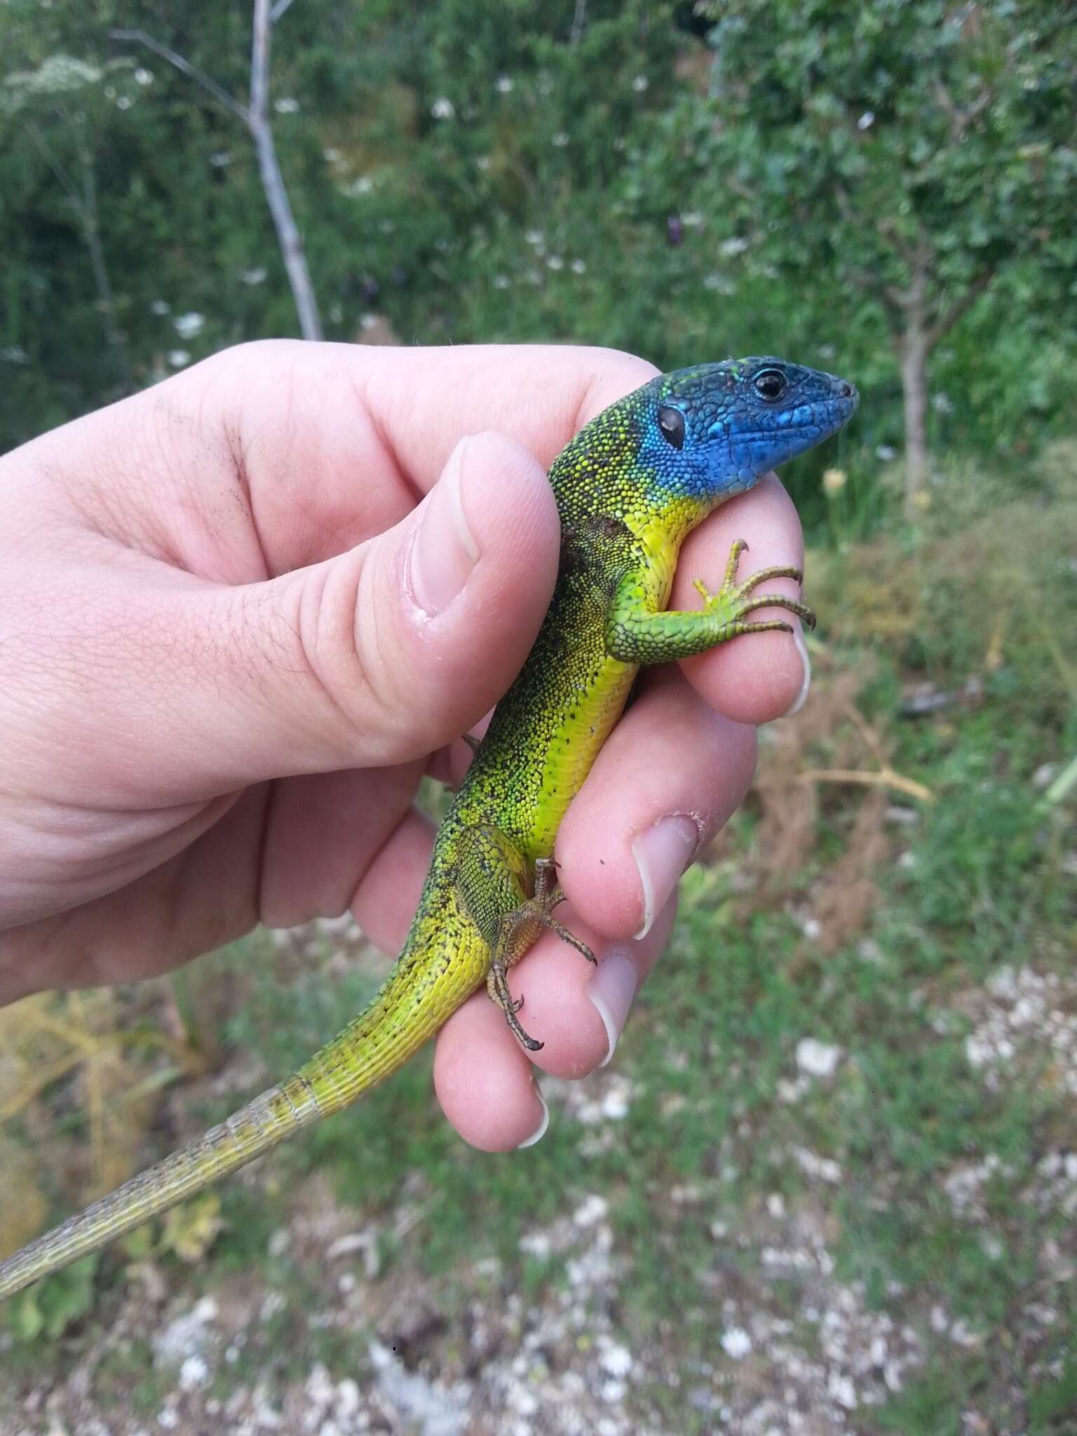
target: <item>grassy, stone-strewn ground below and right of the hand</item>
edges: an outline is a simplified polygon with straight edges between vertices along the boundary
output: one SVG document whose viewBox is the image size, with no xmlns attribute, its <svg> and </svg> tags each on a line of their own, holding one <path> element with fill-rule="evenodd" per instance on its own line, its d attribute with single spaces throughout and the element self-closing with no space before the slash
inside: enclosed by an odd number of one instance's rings
<svg viewBox="0 0 1077 1436">
<path fill-rule="evenodd" d="M 615 1331 L 643 1367 L 625 1397 L 640 1429 L 711 1432 L 722 1410 L 742 1419 L 788 1389 L 783 1351 L 796 1347 L 806 1390 L 830 1381 L 840 1400 L 837 1377 L 854 1373 L 850 1423 L 866 1436 L 1077 1430 L 1074 1203 L 1044 1178 L 1050 1153 L 1077 1149 L 1066 1053 L 1011 1024 L 1001 1066 L 969 1057 L 974 1034 L 1012 1015 L 998 995 L 1010 969 L 1054 982 L 1047 1005 L 1077 1011 L 1074 794 L 1048 810 L 1035 801 L 1037 773 L 1077 752 L 1068 659 L 1050 639 L 1077 615 L 1063 566 L 1071 514 L 1057 493 L 1043 511 L 1011 513 L 1002 537 L 989 518 L 969 520 L 984 561 L 971 560 L 965 526 L 949 543 L 945 528 L 920 544 L 899 536 L 820 566 L 834 620 L 811 704 L 778 725 L 745 813 L 685 880 L 671 951 L 615 1067 L 589 1087 L 593 1099 L 626 1083 L 628 1116 L 596 1122 L 576 1088 L 551 1084 L 543 1142 L 481 1156 L 439 1117 L 424 1055 L 225 1185 L 210 1255 L 194 1269 L 162 1258 L 168 1284 L 191 1295 L 254 1281 L 283 1301 L 234 1369 L 218 1369 L 220 1399 L 237 1381 L 302 1380 L 314 1361 L 346 1374 L 365 1343 L 356 1333 L 372 1330 L 396 1333 L 409 1361 L 445 1380 L 468 1376 L 465 1313 L 478 1307 L 504 1323 L 510 1350 L 527 1313 L 570 1314 L 560 1354 L 528 1358 L 538 1393 L 559 1361 L 587 1367 Z M 1002 549 L 999 599 L 991 556 Z M 1040 602 L 1045 569 L 1058 579 Z M 889 599 L 850 607 L 843 595 L 862 593 L 869 572 Z M 902 718 L 910 679 L 954 696 Z M 801 780 L 883 760 L 932 801 Z M 279 1073 L 340 1027 L 375 975 L 330 979 L 332 948 L 309 951 L 303 971 L 281 971 L 260 938 L 231 954 L 243 999 L 227 1045 Z M 798 1071 L 804 1038 L 840 1050 L 831 1077 Z M 198 1120 L 234 1096 L 200 1100 Z M 314 1190 L 345 1231 L 378 1238 L 372 1310 L 349 1333 L 319 1325 L 336 1279 L 319 1252 L 299 1242 L 271 1255 Z M 595 1228 L 573 1221 L 596 1198 L 616 1258 L 602 1302 L 576 1269 L 595 1259 Z M 108 1271 L 102 1318 L 123 1300 L 115 1261 Z M 425 1335 L 399 1335 L 393 1288 L 426 1311 Z M 93 1327 L 36 1337 L 34 1379 L 59 1380 Z M 748 1361 L 721 1344 L 734 1327 L 751 1333 Z M 900 1357 L 895 1380 L 856 1366 L 869 1340 Z M 16 1348 L 7 1360 L 24 1384 Z M 138 1348 L 102 1357 L 95 1380 L 123 1361 L 138 1364 Z M 146 1409 L 159 1397 L 149 1389 Z"/>
</svg>

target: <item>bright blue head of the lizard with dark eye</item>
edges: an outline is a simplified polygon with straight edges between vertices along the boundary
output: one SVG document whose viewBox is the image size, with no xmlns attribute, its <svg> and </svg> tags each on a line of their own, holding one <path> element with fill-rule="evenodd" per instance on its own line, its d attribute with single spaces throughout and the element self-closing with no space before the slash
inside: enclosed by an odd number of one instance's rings
<svg viewBox="0 0 1077 1436">
<path fill-rule="evenodd" d="M 651 385 L 645 451 L 663 487 L 711 503 L 836 434 L 856 411 L 852 383 L 784 359 L 727 359 Z"/>
</svg>

